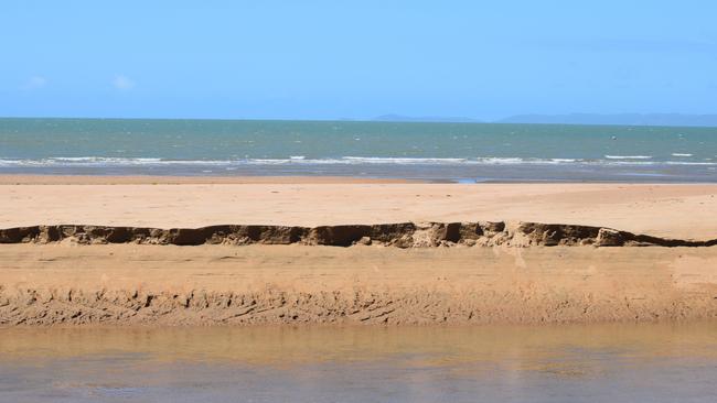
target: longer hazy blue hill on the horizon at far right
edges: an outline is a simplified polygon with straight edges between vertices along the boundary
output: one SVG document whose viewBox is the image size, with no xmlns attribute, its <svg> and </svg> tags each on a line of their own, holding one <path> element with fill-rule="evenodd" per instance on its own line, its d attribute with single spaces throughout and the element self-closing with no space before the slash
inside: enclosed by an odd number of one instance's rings
<svg viewBox="0 0 717 403">
<path fill-rule="evenodd" d="M 505 119 L 501 119 L 497 121 L 497 123 L 717 127 L 717 115 L 682 115 L 682 113 L 516 115 Z"/>
</svg>

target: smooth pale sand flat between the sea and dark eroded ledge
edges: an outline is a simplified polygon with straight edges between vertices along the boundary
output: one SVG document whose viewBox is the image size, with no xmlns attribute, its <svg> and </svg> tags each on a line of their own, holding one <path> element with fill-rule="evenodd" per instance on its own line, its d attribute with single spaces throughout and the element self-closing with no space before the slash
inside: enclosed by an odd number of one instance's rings
<svg viewBox="0 0 717 403">
<path fill-rule="evenodd" d="M 0 228 L 64 224 L 199 228 L 233 222 L 317 227 L 488 220 L 618 228 L 674 239 L 717 237 L 717 185 L 283 181 L 279 184 L 0 185 Z"/>
</svg>

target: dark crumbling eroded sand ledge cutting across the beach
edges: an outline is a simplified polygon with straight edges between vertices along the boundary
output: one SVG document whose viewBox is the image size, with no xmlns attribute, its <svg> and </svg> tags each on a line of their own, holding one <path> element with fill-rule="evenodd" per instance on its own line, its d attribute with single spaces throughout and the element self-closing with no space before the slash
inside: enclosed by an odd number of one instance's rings
<svg viewBox="0 0 717 403">
<path fill-rule="evenodd" d="M 227 225 L 203 228 L 33 226 L 0 229 L 0 243 L 76 242 L 138 244 L 379 244 L 430 247 L 713 247 L 717 239 L 684 240 L 634 235 L 611 228 L 539 222 L 398 222 L 320 227 Z"/>
</svg>

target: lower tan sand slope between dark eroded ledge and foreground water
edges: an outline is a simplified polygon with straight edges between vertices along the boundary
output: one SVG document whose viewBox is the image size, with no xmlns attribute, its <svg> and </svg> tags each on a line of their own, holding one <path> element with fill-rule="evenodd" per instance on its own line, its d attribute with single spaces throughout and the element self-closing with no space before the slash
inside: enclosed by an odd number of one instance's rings
<svg viewBox="0 0 717 403">
<path fill-rule="evenodd" d="M 717 248 L 0 248 L 0 324 L 717 318 Z"/>
</svg>

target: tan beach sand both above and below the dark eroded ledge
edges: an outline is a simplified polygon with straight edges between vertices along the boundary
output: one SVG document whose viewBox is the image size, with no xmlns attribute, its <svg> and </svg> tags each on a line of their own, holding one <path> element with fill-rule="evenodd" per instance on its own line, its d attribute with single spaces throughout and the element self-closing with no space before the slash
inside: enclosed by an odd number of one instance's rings
<svg viewBox="0 0 717 403">
<path fill-rule="evenodd" d="M 223 181 L 3 177 L 0 228 L 533 221 L 717 238 L 717 185 Z M 704 318 L 716 247 L 0 244 L 6 326 Z"/>
</svg>

